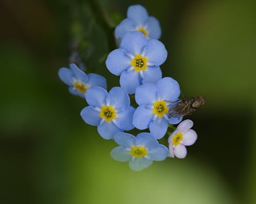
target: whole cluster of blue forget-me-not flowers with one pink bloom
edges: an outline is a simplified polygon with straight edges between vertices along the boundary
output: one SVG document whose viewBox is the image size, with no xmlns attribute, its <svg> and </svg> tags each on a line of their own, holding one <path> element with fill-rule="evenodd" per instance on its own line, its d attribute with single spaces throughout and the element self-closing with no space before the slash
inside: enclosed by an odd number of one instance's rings
<svg viewBox="0 0 256 204">
<path fill-rule="evenodd" d="M 168 115 L 174 101 L 179 100 L 180 86 L 172 78 L 162 78 L 160 65 L 167 58 L 167 50 L 158 40 L 160 36 L 159 21 L 148 16 L 141 5 L 130 6 L 127 18 L 115 29 L 119 48 L 105 61 L 106 68 L 120 76 L 120 87 L 108 92 L 105 78 L 94 73 L 87 75 L 75 64 L 70 64 L 71 69 L 59 70 L 59 77 L 69 86 L 69 91 L 85 98 L 89 105 L 81 111 L 82 119 L 97 126 L 102 138 L 114 139 L 120 146 L 111 151 L 111 157 L 120 162 L 129 161 L 135 171 L 167 156 L 184 158 L 185 145 L 197 139 L 195 131 L 190 130 L 191 120 L 181 122 L 182 116 Z M 135 94 L 136 109 L 130 105 L 129 94 Z M 168 124 L 179 122 L 180 127 L 169 136 L 169 149 L 159 144 L 158 139 L 166 135 Z M 124 133 L 135 127 L 145 132 L 136 137 Z"/>
</svg>

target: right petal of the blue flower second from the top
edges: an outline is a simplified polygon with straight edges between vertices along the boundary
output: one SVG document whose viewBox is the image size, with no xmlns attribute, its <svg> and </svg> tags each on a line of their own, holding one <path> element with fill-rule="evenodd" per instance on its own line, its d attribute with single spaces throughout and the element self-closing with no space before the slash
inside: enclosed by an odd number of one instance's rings
<svg viewBox="0 0 256 204">
<path fill-rule="evenodd" d="M 147 62 L 153 63 L 155 66 L 160 66 L 167 58 L 167 50 L 164 44 L 159 40 L 148 40 L 145 50 Z"/>
</svg>

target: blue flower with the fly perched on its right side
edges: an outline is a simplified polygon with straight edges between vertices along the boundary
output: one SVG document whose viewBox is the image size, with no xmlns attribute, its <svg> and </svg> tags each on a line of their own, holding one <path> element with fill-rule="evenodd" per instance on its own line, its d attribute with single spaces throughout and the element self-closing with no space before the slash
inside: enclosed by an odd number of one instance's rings
<svg viewBox="0 0 256 204">
<path fill-rule="evenodd" d="M 170 124 L 177 124 L 182 117 L 168 117 L 168 110 L 179 100 L 180 86 L 172 78 L 165 77 L 156 84 L 143 84 L 135 92 L 139 107 L 135 110 L 133 124 L 139 130 L 150 128 L 156 139 L 162 138 Z"/>
</svg>

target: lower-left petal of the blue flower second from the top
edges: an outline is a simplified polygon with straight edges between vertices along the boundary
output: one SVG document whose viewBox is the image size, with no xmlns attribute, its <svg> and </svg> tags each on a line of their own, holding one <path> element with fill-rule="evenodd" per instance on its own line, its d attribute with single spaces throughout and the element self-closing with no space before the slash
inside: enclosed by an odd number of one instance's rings
<svg viewBox="0 0 256 204">
<path fill-rule="evenodd" d="M 138 71 L 124 71 L 120 76 L 120 86 L 123 87 L 127 93 L 134 94 L 138 86 L 142 84 L 142 79 Z"/>
</svg>

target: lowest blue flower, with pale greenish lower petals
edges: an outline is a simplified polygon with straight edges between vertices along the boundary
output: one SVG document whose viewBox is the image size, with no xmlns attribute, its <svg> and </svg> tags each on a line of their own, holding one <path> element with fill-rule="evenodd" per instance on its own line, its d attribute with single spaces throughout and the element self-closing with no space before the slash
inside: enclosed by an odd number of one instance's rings
<svg viewBox="0 0 256 204">
<path fill-rule="evenodd" d="M 120 146 L 112 149 L 111 157 L 119 162 L 129 161 L 134 171 L 147 168 L 153 161 L 163 161 L 169 154 L 167 147 L 159 144 L 150 133 L 140 133 L 137 137 L 117 133 L 114 140 Z"/>
</svg>

